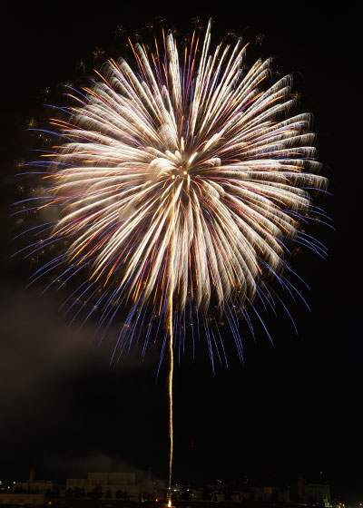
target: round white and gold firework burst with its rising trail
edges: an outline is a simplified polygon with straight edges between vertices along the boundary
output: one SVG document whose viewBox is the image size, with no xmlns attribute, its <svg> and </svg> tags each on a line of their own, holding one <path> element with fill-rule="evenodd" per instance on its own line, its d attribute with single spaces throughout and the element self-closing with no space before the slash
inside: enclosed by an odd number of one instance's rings
<svg viewBox="0 0 363 508">
<path fill-rule="evenodd" d="M 44 154 L 50 183 L 36 208 L 59 213 L 40 227 L 32 252 L 64 239 L 67 247 L 34 279 L 56 271 L 65 282 L 86 271 L 77 298 L 86 318 L 99 309 L 103 329 L 128 308 L 113 356 L 142 329 L 144 355 L 163 328 L 172 447 L 177 342 L 180 352 L 201 327 L 212 364 L 226 359 L 224 316 L 241 357 L 238 318 L 250 326 L 247 310 L 271 296 L 271 278 L 292 288 L 287 246 L 321 249 L 300 224 L 320 213 L 309 193 L 326 180 L 309 114 L 289 114 L 290 77 L 264 84 L 269 59 L 245 70 L 241 41 L 210 54 L 211 24 L 202 42 L 193 34 L 179 50 L 171 33 L 153 49 L 130 44 L 137 70 L 110 60 L 92 88 L 71 90 L 78 104 L 66 108 L 68 120 L 51 120 L 63 144 Z"/>
</svg>

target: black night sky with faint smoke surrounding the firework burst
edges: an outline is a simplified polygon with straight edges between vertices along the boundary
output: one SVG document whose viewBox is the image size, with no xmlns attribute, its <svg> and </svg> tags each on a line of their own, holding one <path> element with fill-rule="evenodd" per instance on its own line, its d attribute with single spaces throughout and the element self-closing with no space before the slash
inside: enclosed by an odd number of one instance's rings
<svg viewBox="0 0 363 508">
<path fill-rule="evenodd" d="M 250 58 L 273 54 L 283 72 L 293 74 L 299 111 L 314 115 L 319 161 L 333 194 L 320 204 L 337 231 L 314 231 L 329 248 L 328 260 L 309 252 L 295 259 L 311 288 L 304 292 L 311 311 L 288 302 L 299 336 L 280 313 L 266 318 L 274 347 L 260 329 L 254 344 L 241 325 L 244 366 L 231 361 L 229 371 L 213 376 L 203 345 L 195 361 L 185 357 L 177 366 L 175 481 L 242 474 L 314 479 L 323 472 L 338 500 L 363 500 L 358 13 L 328 3 L 240 3 L 221 5 L 221 11 L 198 3 L 148 11 L 119 5 L 15 7 L 2 20 L 0 479 L 22 479 L 30 467 L 38 476 L 62 479 L 149 465 L 166 477 L 166 373 L 155 384 L 155 352 L 143 363 L 132 352 L 109 368 L 117 323 L 97 348 L 96 323 L 68 327 L 69 317 L 58 311 L 66 292 L 42 296 L 41 285 L 25 289 L 32 267 L 21 257 L 9 260 L 19 248 L 10 242 L 19 227 L 9 210 L 21 184 L 15 161 L 31 159 L 26 122 L 48 114 L 42 90 L 50 87 L 62 103 L 58 85 L 78 79 L 77 61 L 83 59 L 91 75 L 91 64 L 102 64 L 93 62 L 96 46 L 122 55 L 117 24 L 132 34 L 164 15 L 170 26 L 188 32 L 191 17 L 200 15 L 215 19 L 214 41 L 231 29 L 251 40 L 264 34 Z M 228 330 L 222 333 L 228 343 Z"/>
</svg>

